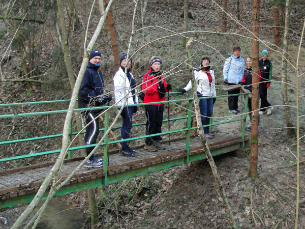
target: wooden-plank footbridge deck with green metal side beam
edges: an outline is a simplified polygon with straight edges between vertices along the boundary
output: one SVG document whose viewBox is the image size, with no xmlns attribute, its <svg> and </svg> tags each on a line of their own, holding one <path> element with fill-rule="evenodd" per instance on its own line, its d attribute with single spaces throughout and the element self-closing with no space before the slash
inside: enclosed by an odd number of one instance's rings
<svg viewBox="0 0 305 229">
<path fill-rule="evenodd" d="M 169 101 L 170 102 L 170 101 Z M 247 107 L 247 106 L 245 106 Z M 104 167 L 87 169 L 81 167 L 77 173 L 63 186 L 55 195 L 63 195 L 71 192 L 81 191 L 89 188 L 105 186 L 134 176 L 143 175 L 149 172 L 170 168 L 175 165 L 190 163 L 206 158 L 206 153 L 202 147 L 200 138 L 191 135 L 191 131 L 197 127 L 191 127 L 191 100 L 189 102 L 189 115 L 187 127 L 179 130 L 164 132 L 167 134 L 175 131 L 186 132 L 186 137 L 172 139 L 163 142 L 166 150 L 158 152 L 148 152 L 144 146 L 133 147 L 136 150 L 134 157 L 122 157 L 118 155 L 118 150 L 108 152 L 108 155 L 97 154 L 99 157 L 106 157 Z M 0 116 L 1 118 L 1 116 Z M 246 115 L 233 121 L 241 121 L 242 129 L 238 133 L 226 133 L 226 131 L 216 132 L 216 137 L 207 139 L 208 147 L 213 156 L 236 151 L 245 146 L 245 120 Z M 166 120 L 164 120 L 166 122 Z M 233 122 L 228 121 L 228 122 Z M 223 124 L 223 123 L 222 123 Z M 212 123 L 220 125 L 220 123 Z M 236 124 L 238 126 L 238 124 Z M 105 126 L 106 129 L 106 126 Z M 105 131 L 105 129 L 103 129 Z M 142 138 L 145 136 L 142 136 Z M 132 139 L 132 138 L 131 138 Z M 116 144 L 121 140 L 109 141 L 107 144 Z M 4 144 L 0 142 L 0 144 Z M 104 148 L 107 147 L 104 144 Z M 104 151 L 105 152 L 105 151 Z M 42 155 L 46 152 L 42 152 Z M 30 157 L 31 155 L 28 155 Z M 108 156 L 108 160 L 107 160 Z M 26 156 L 27 157 L 27 156 Z M 15 158 L 1 158 L 1 161 L 9 161 Z M 65 159 L 65 163 L 60 170 L 59 178 L 68 177 L 71 172 L 79 165 L 83 157 Z M 43 164 L 32 164 L 24 167 L 17 167 L 0 171 L 0 209 L 14 207 L 29 203 L 34 198 L 44 178 L 49 173 L 54 162 Z M 46 191 L 43 198 L 48 194 Z"/>
</svg>

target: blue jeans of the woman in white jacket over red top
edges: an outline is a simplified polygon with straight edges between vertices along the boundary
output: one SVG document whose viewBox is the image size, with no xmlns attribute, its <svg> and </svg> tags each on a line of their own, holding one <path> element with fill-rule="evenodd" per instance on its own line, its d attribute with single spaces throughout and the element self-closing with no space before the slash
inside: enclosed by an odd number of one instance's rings
<svg viewBox="0 0 305 229">
<path fill-rule="evenodd" d="M 203 97 L 198 96 L 198 98 L 203 98 Z M 199 99 L 199 109 L 200 109 L 202 126 L 208 125 L 210 122 L 210 117 L 212 117 L 212 113 L 213 113 L 213 99 Z M 203 131 L 205 134 L 208 134 L 209 126 L 203 127 Z"/>
</svg>

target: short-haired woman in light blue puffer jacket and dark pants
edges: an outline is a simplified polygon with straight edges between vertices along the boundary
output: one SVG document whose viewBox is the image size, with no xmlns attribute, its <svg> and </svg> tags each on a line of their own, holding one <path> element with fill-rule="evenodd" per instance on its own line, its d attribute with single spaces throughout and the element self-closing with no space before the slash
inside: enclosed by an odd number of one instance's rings
<svg viewBox="0 0 305 229">
<path fill-rule="evenodd" d="M 223 75 L 225 83 L 228 85 L 240 84 L 245 69 L 245 60 L 240 56 L 240 47 L 233 48 L 233 54 L 225 61 Z M 239 94 L 240 89 L 233 89 L 228 92 L 229 95 Z M 238 109 L 238 95 L 228 97 L 229 112 L 235 115 L 240 112 Z"/>
</svg>

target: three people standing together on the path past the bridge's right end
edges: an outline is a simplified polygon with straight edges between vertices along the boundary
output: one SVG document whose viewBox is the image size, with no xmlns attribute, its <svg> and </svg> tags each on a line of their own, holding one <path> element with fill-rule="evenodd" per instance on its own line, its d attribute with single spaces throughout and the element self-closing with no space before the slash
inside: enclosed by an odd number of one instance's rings
<svg viewBox="0 0 305 229">
<path fill-rule="evenodd" d="M 268 51 L 266 48 L 261 53 L 261 60 L 259 61 L 259 96 L 261 99 L 261 105 L 259 115 L 266 113 L 271 115 L 273 107 L 267 100 L 267 92 L 270 87 L 270 81 L 272 77 L 272 64 L 268 60 Z M 240 47 L 236 46 L 233 48 L 233 54 L 225 61 L 223 75 L 225 83 L 228 85 L 245 85 L 245 88 L 252 92 L 252 58 L 248 57 L 247 66 L 245 68 L 245 61 L 240 56 Z M 238 95 L 240 89 L 236 88 L 228 92 L 228 105 L 229 112 L 237 114 L 240 112 L 238 109 Z M 252 121 L 252 102 L 251 99 L 248 101 L 248 111 L 250 121 Z M 246 127 L 247 130 L 251 130 L 251 123 Z"/>
</svg>

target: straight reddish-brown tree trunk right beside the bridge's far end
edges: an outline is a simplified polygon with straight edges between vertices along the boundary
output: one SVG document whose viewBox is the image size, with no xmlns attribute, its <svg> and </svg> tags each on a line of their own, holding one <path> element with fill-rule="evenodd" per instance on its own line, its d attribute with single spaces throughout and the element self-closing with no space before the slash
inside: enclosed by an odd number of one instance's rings
<svg viewBox="0 0 305 229">
<path fill-rule="evenodd" d="M 250 169 L 249 177 L 257 178 L 257 157 L 258 157 L 258 103 L 259 103 L 259 75 L 258 75 L 258 61 L 259 61 L 259 0 L 253 1 L 253 21 L 252 21 L 252 128 L 251 128 L 251 155 L 250 155 Z"/>
</svg>

